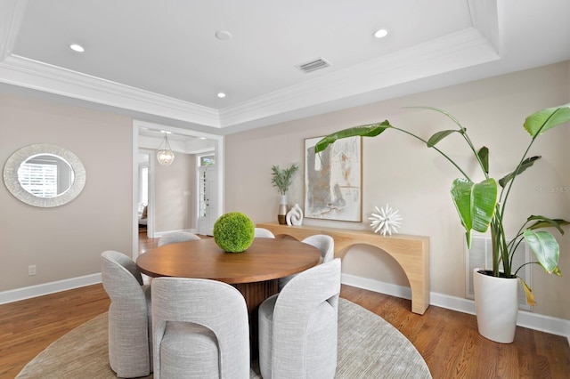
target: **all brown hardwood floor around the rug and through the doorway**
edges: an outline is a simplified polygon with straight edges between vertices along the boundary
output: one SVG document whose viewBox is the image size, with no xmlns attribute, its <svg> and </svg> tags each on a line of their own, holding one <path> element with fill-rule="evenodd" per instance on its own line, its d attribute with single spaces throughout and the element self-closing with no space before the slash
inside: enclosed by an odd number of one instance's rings
<svg viewBox="0 0 570 379">
<path fill-rule="evenodd" d="M 144 251 L 156 244 L 146 241 Z M 493 343 L 477 333 L 475 316 L 430 306 L 411 313 L 409 300 L 342 286 L 340 295 L 403 333 L 434 378 L 568 378 L 566 337 L 517 327 L 515 342 Z M 74 327 L 108 310 L 101 285 L 0 305 L 0 378 L 13 378 L 30 359 Z"/>
</svg>

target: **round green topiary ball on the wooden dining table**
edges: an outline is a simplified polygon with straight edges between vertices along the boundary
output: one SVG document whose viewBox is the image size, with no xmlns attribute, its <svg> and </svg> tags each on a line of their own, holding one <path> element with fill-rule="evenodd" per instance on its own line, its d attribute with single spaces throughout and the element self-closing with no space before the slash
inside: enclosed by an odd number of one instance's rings
<svg viewBox="0 0 570 379">
<path fill-rule="evenodd" d="M 214 224 L 214 241 L 228 253 L 241 253 L 253 242 L 255 225 L 240 212 L 222 214 Z"/>
</svg>

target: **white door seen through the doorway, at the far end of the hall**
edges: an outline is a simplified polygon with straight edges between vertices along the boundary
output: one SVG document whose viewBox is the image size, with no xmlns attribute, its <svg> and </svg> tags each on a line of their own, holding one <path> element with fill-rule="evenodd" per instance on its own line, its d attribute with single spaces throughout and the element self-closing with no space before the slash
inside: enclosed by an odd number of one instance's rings
<svg viewBox="0 0 570 379">
<path fill-rule="evenodd" d="M 212 236 L 217 214 L 216 166 L 198 168 L 198 233 Z"/>
</svg>

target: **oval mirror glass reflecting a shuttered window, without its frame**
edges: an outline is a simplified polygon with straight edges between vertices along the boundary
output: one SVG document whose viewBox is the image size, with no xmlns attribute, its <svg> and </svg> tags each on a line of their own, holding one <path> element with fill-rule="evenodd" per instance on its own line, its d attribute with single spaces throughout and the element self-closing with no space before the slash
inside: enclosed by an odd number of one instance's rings
<svg viewBox="0 0 570 379">
<path fill-rule="evenodd" d="M 38 198 L 55 198 L 65 193 L 74 181 L 68 162 L 51 154 L 29 157 L 18 168 L 23 189 Z"/>
</svg>

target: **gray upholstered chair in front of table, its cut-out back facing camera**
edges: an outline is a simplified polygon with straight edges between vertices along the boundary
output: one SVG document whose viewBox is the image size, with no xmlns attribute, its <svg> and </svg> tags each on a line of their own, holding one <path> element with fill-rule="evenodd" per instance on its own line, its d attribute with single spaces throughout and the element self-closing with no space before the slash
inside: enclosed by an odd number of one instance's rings
<svg viewBox="0 0 570 379">
<path fill-rule="evenodd" d="M 152 281 L 154 378 L 249 377 L 248 310 L 216 280 Z"/>
</svg>

